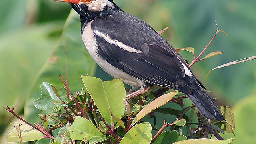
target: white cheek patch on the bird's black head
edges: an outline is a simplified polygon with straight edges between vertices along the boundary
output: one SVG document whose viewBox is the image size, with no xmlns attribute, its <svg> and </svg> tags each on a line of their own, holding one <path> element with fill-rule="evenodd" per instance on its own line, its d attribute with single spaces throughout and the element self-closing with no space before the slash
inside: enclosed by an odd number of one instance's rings
<svg viewBox="0 0 256 144">
<path fill-rule="evenodd" d="M 108 0 L 93 0 L 92 2 L 86 4 L 88 10 L 93 12 L 101 12 L 106 6 L 110 8 L 115 8 L 114 4 Z"/>
</svg>

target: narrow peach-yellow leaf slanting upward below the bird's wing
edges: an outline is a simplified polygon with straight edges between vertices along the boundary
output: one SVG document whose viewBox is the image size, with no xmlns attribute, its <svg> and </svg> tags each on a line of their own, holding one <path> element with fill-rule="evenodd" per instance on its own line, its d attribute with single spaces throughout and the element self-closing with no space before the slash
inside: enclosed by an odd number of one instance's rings
<svg viewBox="0 0 256 144">
<path fill-rule="evenodd" d="M 176 92 L 170 92 L 168 94 L 164 94 L 162 96 L 160 96 L 159 98 L 157 98 L 156 100 L 150 102 L 150 104 L 146 105 L 134 118 L 134 120 L 132 121 L 132 125 L 136 124 L 136 122 L 138 122 L 139 120 L 141 120 L 144 116 L 146 116 L 147 114 L 149 114 L 150 112 L 152 112 L 153 110 L 155 110 L 156 108 L 159 108 L 160 106 L 163 106 L 164 104 L 166 104 L 167 102 L 169 102 L 176 94 L 178 93 L 178 91 Z"/>
</svg>

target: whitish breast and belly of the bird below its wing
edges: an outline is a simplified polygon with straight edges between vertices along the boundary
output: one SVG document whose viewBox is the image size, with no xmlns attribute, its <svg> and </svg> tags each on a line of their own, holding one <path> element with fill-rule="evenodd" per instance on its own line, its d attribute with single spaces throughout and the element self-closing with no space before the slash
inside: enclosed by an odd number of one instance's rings
<svg viewBox="0 0 256 144">
<path fill-rule="evenodd" d="M 98 48 L 96 47 L 96 38 L 94 36 L 94 33 L 92 32 L 91 23 L 92 22 L 89 22 L 84 28 L 84 32 L 82 33 L 82 39 L 89 54 L 92 56 L 95 62 L 114 78 L 122 78 L 123 82 L 126 84 L 135 87 L 142 87 L 144 85 L 144 82 L 142 80 L 138 80 L 137 78 L 134 78 L 129 74 L 126 74 L 125 72 L 109 64 L 106 60 L 104 60 L 98 55 Z"/>
</svg>

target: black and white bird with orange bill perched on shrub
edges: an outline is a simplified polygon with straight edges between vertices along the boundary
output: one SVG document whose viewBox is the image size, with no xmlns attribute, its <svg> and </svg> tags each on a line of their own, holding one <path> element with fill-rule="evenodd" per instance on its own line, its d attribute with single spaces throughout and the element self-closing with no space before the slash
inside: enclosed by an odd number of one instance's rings
<svg viewBox="0 0 256 144">
<path fill-rule="evenodd" d="M 205 118 L 225 120 L 186 61 L 149 24 L 113 0 L 55 1 L 68 2 L 80 15 L 82 40 L 95 62 L 114 78 L 140 88 L 127 98 L 171 88 L 186 94 Z"/>
</svg>

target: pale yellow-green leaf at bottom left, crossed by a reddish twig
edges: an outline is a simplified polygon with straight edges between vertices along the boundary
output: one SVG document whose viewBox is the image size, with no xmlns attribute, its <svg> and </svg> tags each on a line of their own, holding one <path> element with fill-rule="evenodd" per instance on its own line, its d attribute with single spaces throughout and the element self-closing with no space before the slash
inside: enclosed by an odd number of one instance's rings
<svg viewBox="0 0 256 144">
<path fill-rule="evenodd" d="M 27 124 L 18 122 L 14 122 L 11 124 L 14 126 L 14 128 L 12 128 L 12 130 L 8 133 L 6 137 L 8 142 L 20 142 L 20 134 L 23 142 L 40 140 L 44 136 L 41 132 L 32 128 L 31 126 L 28 126 Z M 17 129 L 20 133 L 19 135 Z"/>
</svg>

